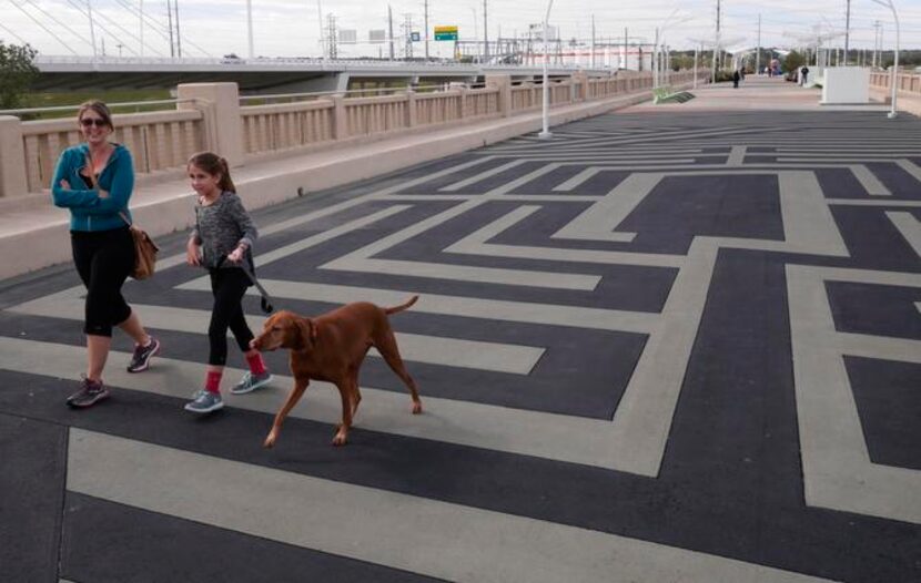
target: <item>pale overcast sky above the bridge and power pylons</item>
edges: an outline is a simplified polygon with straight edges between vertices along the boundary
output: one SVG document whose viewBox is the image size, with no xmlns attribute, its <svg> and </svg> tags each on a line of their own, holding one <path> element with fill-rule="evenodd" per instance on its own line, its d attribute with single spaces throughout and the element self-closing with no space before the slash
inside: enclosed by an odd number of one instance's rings
<svg viewBox="0 0 921 583">
<path fill-rule="evenodd" d="M 405 24 L 425 38 L 424 0 L 251 0 L 255 55 L 317 57 L 321 54 L 321 20 L 327 24 L 335 17 L 336 28 L 355 30 L 358 43 L 340 45 L 342 57 L 386 55 L 386 45 L 371 44 L 368 31 L 387 28 L 387 7 L 393 12 L 394 35 Z M 902 27 L 902 48 L 921 48 L 921 0 L 893 0 Z M 249 32 L 245 0 L 178 0 L 179 22 L 184 57 L 222 57 L 236 53 L 249 57 Z M 669 45 L 691 48 L 695 40 L 713 38 L 716 0 L 555 0 L 550 25 L 558 27 L 560 37 L 590 43 L 593 20 L 596 41 L 624 37 L 625 28 L 632 40 L 652 42 L 657 27 L 665 25 Z M 796 47 L 817 34 L 840 35 L 831 42 L 843 47 L 847 0 L 772 0 L 770 2 L 721 2 L 722 38 L 728 48 L 753 47 L 758 43 L 758 19 L 761 19 L 761 44 Z M 872 0 L 852 0 L 850 47 L 872 49 L 874 21 L 881 22 L 882 42 L 894 44 L 892 13 Z M 170 43 L 166 0 L 0 0 L 0 39 L 10 43 L 28 42 L 45 55 L 92 54 L 88 6 L 93 13 L 93 32 L 98 50 L 104 42 L 105 53 L 135 57 L 141 53 L 141 18 L 145 57 L 169 57 Z M 545 0 L 487 0 L 489 39 L 527 34 L 528 27 L 543 21 Z M 677 8 L 677 10 L 676 10 Z M 321 12 L 322 10 L 322 12 Z M 484 32 L 483 0 L 429 0 L 428 29 L 457 25 L 460 39 L 482 39 Z M 670 17 L 670 20 L 669 20 Z M 638 38 L 638 39 L 637 39 Z M 399 45 L 399 42 L 397 42 Z M 429 42 L 429 54 L 448 57 L 451 42 Z M 119 47 L 121 45 L 121 47 Z M 401 47 L 397 48 L 399 52 Z M 424 43 L 414 45 L 416 55 L 424 54 Z"/>
</svg>

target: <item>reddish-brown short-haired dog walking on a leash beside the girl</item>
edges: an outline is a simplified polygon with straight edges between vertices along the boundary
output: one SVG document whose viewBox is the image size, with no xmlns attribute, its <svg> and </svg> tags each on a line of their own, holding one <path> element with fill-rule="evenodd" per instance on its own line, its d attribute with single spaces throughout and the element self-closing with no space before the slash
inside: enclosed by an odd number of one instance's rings
<svg viewBox="0 0 921 583">
<path fill-rule="evenodd" d="M 250 346 L 266 351 L 289 348 L 289 365 L 294 376 L 294 388 L 282 406 L 272 430 L 263 443 L 275 444 L 282 422 L 304 391 L 311 379 L 335 383 L 342 396 L 342 423 L 336 428 L 334 446 L 344 446 L 352 427 L 352 418 L 358 409 L 362 395 L 358 391 L 358 369 L 373 346 L 381 352 L 396 376 L 409 388 L 413 413 L 422 412 L 422 401 L 413 377 L 406 372 L 396 347 L 387 316 L 403 311 L 416 303 L 413 296 L 401 306 L 382 308 L 367 301 L 347 304 L 316 318 L 304 318 L 292 311 L 279 311 L 265 320 L 265 326 Z"/>
</svg>

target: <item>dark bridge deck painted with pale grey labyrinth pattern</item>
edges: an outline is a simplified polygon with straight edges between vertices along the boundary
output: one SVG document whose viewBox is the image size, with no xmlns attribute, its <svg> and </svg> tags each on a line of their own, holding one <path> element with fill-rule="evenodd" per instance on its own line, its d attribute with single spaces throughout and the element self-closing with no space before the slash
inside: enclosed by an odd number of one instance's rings
<svg viewBox="0 0 921 583">
<path fill-rule="evenodd" d="M 254 216 L 281 308 L 421 295 L 392 323 L 425 413 L 372 351 L 345 448 L 338 395 L 314 383 L 261 449 L 283 354 L 269 389 L 184 415 L 211 294 L 182 237 L 126 286 L 163 356 L 121 372 L 119 338 L 114 397 L 69 411 L 83 290 L 59 269 L 2 311 L 23 569 L 921 580 L 919 120 L 605 115 Z"/>
</svg>

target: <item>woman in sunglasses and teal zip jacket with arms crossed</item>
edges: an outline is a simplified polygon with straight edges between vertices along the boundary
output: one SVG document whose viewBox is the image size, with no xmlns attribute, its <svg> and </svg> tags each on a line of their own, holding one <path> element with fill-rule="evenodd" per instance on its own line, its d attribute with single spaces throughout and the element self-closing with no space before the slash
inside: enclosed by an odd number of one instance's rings
<svg viewBox="0 0 921 583">
<path fill-rule="evenodd" d="M 88 101 L 77 114 L 84 143 L 61 153 L 51 194 L 55 206 L 70 209 L 70 239 L 77 273 L 87 286 L 83 333 L 87 374 L 68 397 L 71 407 L 90 407 L 109 397 L 102 369 L 118 326 L 134 340 L 129 372 L 141 372 L 160 352 L 160 341 L 141 326 L 121 288 L 134 266 L 134 242 L 128 201 L 134 188 L 131 153 L 109 142 L 112 114 L 101 101 Z"/>
</svg>

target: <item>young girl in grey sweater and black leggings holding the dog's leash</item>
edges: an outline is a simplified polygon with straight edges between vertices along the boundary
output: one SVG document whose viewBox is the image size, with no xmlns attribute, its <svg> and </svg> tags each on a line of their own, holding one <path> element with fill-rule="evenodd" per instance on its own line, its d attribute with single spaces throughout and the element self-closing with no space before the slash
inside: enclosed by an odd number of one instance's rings
<svg viewBox="0 0 921 583">
<path fill-rule="evenodd" d="M 189 160 L 189 178 L 199 198 L 196 224 L 185 256 L 190 265 L 208 268 L 214 306 L 208 328 L 211 352 L 204 389 L 195 393 L 185 410 L 209 413 L 224 407 L 220 387 L 227 359 L 227 328 L 233 331 L 236 345 L 250 365 L 250 371 L 231 392 L 242 395 L 263 387 L 272 380 L 272 375 L 265 369 L 260 351 L 250 348 L 253 333 L 246 325 L 241 304 L 246 287 L 252 285 L 242 262 L 246 262 L 252 272 L 256 227 L 236 195 L 224 158 L 211 152 L 195 154 Z"/>
</svg>

